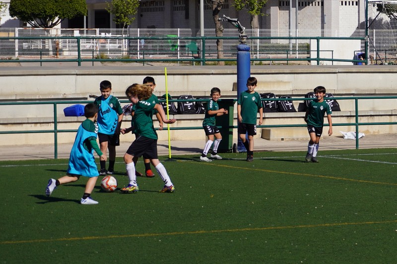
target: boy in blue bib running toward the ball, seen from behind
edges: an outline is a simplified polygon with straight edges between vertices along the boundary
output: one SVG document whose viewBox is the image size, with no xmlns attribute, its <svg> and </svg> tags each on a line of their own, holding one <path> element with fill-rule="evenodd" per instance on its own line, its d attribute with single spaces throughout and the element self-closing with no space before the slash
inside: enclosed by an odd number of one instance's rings
<svg viewBox="0 0 397 264">
<path fill-rule="evenodd" d="M 98 178 L 98 168 L 95 163 L 94 150 L 98 156 L 106 160 L 96 143 L 98 125 L 95 123 L 98 117 L 98 107 L 95 104 L 87 104 L 84 107 L 84 116 L 87 118 L 78 127 L 76 138 L 70 152 L 69 166 L 66 176 L 58 180 L 50 179 L 46 188 L 46 195 L 50 196 L 60 184 L 77 181 L 80 176 L 89 177 L 85 186 L 83 197 L 80 200 L 82 205 L 96 205 L 97 201 L 91 198 L 96 180 Z"/>
</svg>

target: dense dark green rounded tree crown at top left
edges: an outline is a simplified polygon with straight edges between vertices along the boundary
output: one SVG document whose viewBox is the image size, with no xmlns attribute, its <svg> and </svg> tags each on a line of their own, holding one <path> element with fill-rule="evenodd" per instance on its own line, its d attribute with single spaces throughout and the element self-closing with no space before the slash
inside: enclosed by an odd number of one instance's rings
<svg viewBox="0 0 397 264">
<path fill-rule="evenodd" d="M 52 28 L 65 18 L 87 14 L 85 0 L 11 0 L 9 13 L 33 27 Z"/>
</svg>

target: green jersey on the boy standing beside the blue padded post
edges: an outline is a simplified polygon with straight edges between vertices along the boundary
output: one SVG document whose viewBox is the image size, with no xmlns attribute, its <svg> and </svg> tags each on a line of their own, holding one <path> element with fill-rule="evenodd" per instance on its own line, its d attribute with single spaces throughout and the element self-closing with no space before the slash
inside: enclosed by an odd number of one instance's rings
<svg viewBox="0 0 397 264">
<path fill-rule="evenodd" d="M 240 94 L 237 104 L 241 106 L 242 123 L 256 125 L 257 113 L 262 107 L 261 96 L 257 92 L 250 94 L 244 91 Z"/>
</svg>

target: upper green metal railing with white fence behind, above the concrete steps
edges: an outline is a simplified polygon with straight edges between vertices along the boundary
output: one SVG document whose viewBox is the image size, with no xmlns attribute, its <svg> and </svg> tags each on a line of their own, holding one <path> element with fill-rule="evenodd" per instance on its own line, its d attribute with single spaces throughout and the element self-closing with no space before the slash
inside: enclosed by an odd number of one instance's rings
<svg viewBox="0 0 397 264">
<path fill-rule="evenodd" d="M 160 44 L 153 44 L 149 49 L 139 49 L 140 40 L 146 42 L 156 42 Z M 224 57 L 217 58 L 216 45 L 214 43 L 217 40 L 229 40 L 235 42 L 235 45 L 228 45 L 227 49 L 224 49 Z M 255 47 L 255 40 L 262 41 L 261 45 Z M 306 57 L 299 57 L 298 53 L 302 52 L 302 49 L 295 47 L 296 49 L 286 48 L 286 44 L 278 44 L 280 49 L 275 49 L 272 44 L 271 48 L 267 48 L 266 43 L 271 42 L 285 42 L 285 41 L 308 41 L 316 40 L 317 47 L 315 50 L 316 56 L 311 57 L 309 47 L 307 49 L 308 55 Z M 361 60 L 352 58 L 334 58 L 333 51 L 332 57 L 321 57 L 321 53 L 324 51 L 320 50 L 320 42 L 327 40 L 361 40 L 361 37 L 250 37 L 249 43 L 252 43 L 254 47 L 251 47 L 251 53 L 254 56 L 257 54 L 257 58 L 253 60 L 256 61 L 316 61 L 317 65 L 320 65 L 321 61 L 341 61 L 341 62 L 362 62 Z M 199 62 L 205 65 L 208 62 L 217 61 L 236 61 L 237 60 L 237 49 L 236 46 L 239 44 L 238 37 L 129 37 L 129 36 L 118 36 L 118 37 L 107 37 L 107 36 L 30 36 L 30 37 L 0 37 L 0 43 L 4 41 L 15 42 L 15 54 L 26 53 L 26 54 L 40 54 L 40 59 L 18 59 L 18 62 L 76 62 L 78 66 L 84 61 L 88 62 L 104 62 L 104 61 L 122 61 L 122 62 L 155 62 L 155 61 L 168 61 L 168 62 Z M 25 42 L 24 42 L 25 41 Z M 35 46 L 24 47 L 24 44 L 36 43 Z M 60 46 L 60 43 L 69 43 L 69 48 L 67 46 Z M 195 44 L 196 48 L 190 44 Z M 37 44 L 38 43 L 38 44 Z M 70 44 L 72 43 L 72 44 Z M 87 44 L 88 43 L 88 44 Z M 105 44 L 103 44 L 105 43 Z M 130 45 L 132 43 L 133 45 Z M 39 45 L 40 44 L 40 45 Z M 210 44 L 210 45 L 209 45 Z M 107 45 L 107 46 L 106 46 Z M 113 46 L 112 46 L 113 45 Z M 157 46 L 156 46 L 157 45 Z M 26 45 L 25 45 L 26 46 Z M 44 47 L 44 48 L 43 48 Z M 192 48 L 193 47 L 193 48 Z M 292 47 L 293 48 L 293 47 Z M 285 50 L 289 52 L 285 53 Z M 259 58 L 259 53 L 263 51 L 272 54 L 278 54 L 278 56 L 273 56 L 271 58 Z M 277 51 L 277 52 L 276 52 Z M 7 53 L 10 51 L 8 50 Z M 43 59 L 43 53 L 47 53 L 47 57 Z M 67 54 L 66 54 L 67 53 Z M 91 56 L 93 53 L 96 57 Z M 160 54 L 161 53 L 161 54 Z M 193 56 L 193 53 L 197 53 L 197 56 Z M 294 56 L 293 54 L 296 53 Z M 62 54 L 62 55 L 61 55 Z M 105 54 L 106 57 L 101 57 L 101 54 Z M 149 55 L 149 58 L 141 58 L 142 54 Z M 0 51 L 1 55 L 1 51 Z M 160 57 L 161 55 L 161 57 Z M 110 56 L 116 56 L 110 58 Z M 119 57 L 117 57 L 119 56 Z M 152 56 L 152 57 L 150 57 Z M 16 55 L 16 57 L 18 57 Z M 91 57 L 91 58 L 90 58 Z M 2 62 L 14 62 L 15 60 L 1 60 Z"/>
</svg>

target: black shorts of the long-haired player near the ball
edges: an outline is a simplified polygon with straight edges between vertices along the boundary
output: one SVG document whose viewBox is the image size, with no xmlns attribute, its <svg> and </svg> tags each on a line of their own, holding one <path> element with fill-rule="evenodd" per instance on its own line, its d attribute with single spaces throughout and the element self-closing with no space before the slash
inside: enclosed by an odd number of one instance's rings
<svg viewBox="0 0 397 264">
<path fill-rule="evenodd" d="M 143 155 L 143 158 L 158 159 L 157 139 L 139 136 L 132 142 L 130 148 L 127 150 L 127 154 L 133 157 Z"/>
</svg>

